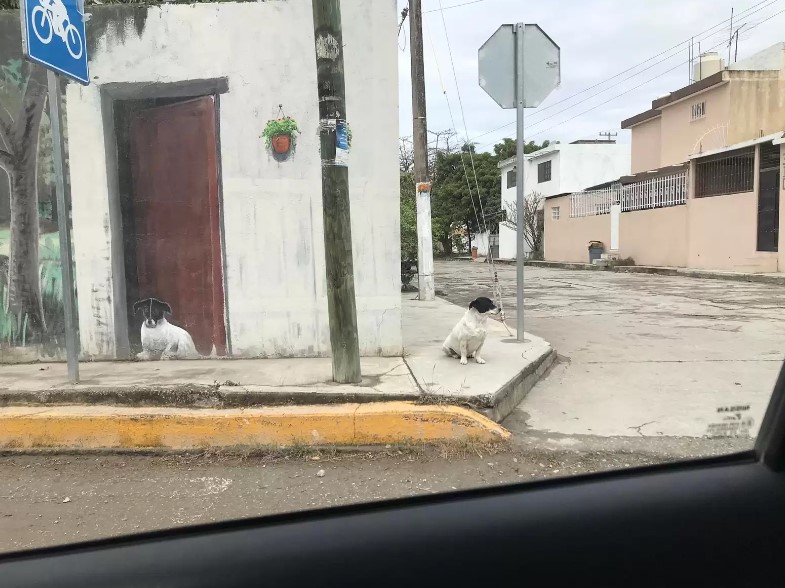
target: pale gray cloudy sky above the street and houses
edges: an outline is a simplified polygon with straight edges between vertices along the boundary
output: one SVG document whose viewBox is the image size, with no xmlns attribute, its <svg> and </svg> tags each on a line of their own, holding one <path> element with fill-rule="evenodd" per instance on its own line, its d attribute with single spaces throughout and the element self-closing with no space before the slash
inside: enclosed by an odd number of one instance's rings
<svg viewBox="0 0 785 588">
<path fill-rule="evenodd" d="M 398 0 L 399 12 L 407 4 L 407 0 Z M 785 0 L 441 0 L 442 12 L 439 6 L 440 0 L 423 0 L 428 128 L 453 128 L 444 87 L 454 126 L 461 137 L 466 134 L 446 24 L 468 135 L 479 150 L 490 150 L 502 137 L 515 135 L 515 111 L 499 108 L 477 84 L 477 49 L 501 24 L 537 23 L 561 47 L 561 86 L 539 108 L 526 111 L 526 139 L 537 142 L 598 138 L 605 131 L 618 132 L 618 140 L 629 142 L 629 131 L 619 129 L 623 119 L 648 109 L 658 95 L 687 85 L 690 37 L 695 37 L 696 55 L 700 41 L 701 51 L 713 48 L 727 59 L 731 7 L 733 28 L 742 25 L 739 60 L 785 41 L 785 12 L 780 13 L 785 11 Z M 400 134 L 409 136 L 408 19 L 398 42 Z M 662 52 L 666 53 L 646 61 Z M 600 82 L 604 83 L 582 92 Z M 577 95 L 571 98 L 573 94 Z"/>
</svg>

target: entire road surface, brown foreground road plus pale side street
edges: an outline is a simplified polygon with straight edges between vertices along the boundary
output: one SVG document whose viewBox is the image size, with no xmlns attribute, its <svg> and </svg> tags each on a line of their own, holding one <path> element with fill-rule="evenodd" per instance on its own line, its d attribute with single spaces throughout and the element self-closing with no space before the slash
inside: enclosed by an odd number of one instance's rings
<svg viewBox="0 0 785 588">
<path fill-rule="evenodd" d="M 492 292 L 482 264 L 436 271 L 457 304 Z M 514 324 L 514 268 L 498 271 Z M 527 269 L 526 328 L 561 358 L 504 422 L 509 446 L 0 456 L 0 551 L 744 450 L 703 434 L 728 403 L 759 420 L 783 302 L 776 286 Z"/>
</svg>

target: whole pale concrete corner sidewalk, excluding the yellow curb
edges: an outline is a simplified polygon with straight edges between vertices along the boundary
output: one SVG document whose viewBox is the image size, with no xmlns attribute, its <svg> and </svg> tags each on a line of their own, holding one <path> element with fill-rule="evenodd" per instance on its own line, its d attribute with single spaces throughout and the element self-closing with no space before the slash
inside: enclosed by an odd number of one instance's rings
<svg viewBox="0 0 785 588">
<path fill-rule="evenodd" d="M 489 320 L 488 363 L 462 366 L 442 342 L 464 309 L 445 300 L 403 299 L 404 357 L 364 357 L 363 381 L 331 381 L 330 358 L 107 361 L 80 364 L 79 384 L 64 363 L 0 366 L 0 406 L 110 404 L 248 408 L 430 399 L 504 418 L 555 357 L 550 345 L 527 334 L 515 341 Z"/>
</svg>

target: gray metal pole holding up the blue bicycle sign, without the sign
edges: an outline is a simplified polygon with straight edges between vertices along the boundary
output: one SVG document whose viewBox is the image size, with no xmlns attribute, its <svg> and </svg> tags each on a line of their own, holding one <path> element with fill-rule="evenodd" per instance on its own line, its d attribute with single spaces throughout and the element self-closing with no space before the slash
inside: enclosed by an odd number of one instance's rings
<svg viewBox="0 0 785 588">
<path fill-rule="evenodd" d="M 49 85 L 49 119 L 52 126 L 52 159 L 57 193 L 57 229 L 60 233 L 60 265 L 63 273 L 63 311 L 65 317 L 65 349 L 68 357 L 68 379 L 79 382 L 79 325 L 77 324 L 76 288 L 71 257 L 71 188 L 65 182 L 65 142 L 63 140 L 60 75 L 47 71 Z"/>
</svg>

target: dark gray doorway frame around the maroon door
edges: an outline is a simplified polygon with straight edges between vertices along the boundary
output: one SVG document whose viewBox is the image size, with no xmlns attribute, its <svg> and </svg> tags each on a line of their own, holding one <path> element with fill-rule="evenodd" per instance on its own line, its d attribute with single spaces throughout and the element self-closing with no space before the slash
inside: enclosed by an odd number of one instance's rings
<svg viewBox="0 0 785 588">
<path fill-rule="evenodd" d="M 185 80 L 182 82 L 112 82 L 101 86 L 101 110 L 104 128 L 104 147 L 106 150 L 107 182 L 109 189 L 109 217 L 112 226 L 111 264 L 112 264 L 112 296 L 115 324 L 115 349 L 118 359 L 131 359 L 133 349 L 138 346 L 139 334 L 134 328 L 133 289 L 135 284 L 135 266 L 127 263 L 127 254 L 135 256 L 133 244 L 128 243 L 133 228 L 128 230 L 127 224 L 133 222 L 133 215 L 128 214 L 123 198 L 124 191 L 130 187 L 130 159 L 120 160 L 120 153 L 130 153 L 129 123 L 134 112 L 150 106 L 163 106 L 194 98 L 211 96 L 215 105 L 217 179 L 218 179 L 218 217 L 220 224 L 220 250 L 222 267 L 222 287 L 224 294 L 224 326 L 226 329 L 226 353 L 232 355 L 231 331 L 229 326 L 229 294 L 226 279 L 226 230 L 224 224 L 223 173 L 221 161 L 221 94 L 229 91 L 228 78 L 211 78 L 202 80 Z M 125 149 L 123 151 L 123 149 Z M 130 280 L 130 282 L 129 282 Z M 130 300 L 130 302 L 129 302 Z M 121 301 L 121 302 L 120 302 Z"/>
</svg>

